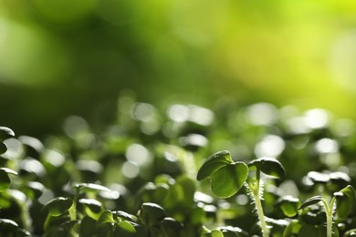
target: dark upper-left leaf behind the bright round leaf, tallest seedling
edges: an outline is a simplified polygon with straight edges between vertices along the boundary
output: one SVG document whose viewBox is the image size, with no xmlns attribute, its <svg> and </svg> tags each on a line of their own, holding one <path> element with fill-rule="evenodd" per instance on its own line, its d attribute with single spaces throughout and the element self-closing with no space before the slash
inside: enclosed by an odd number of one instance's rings
<svg viewBox="0 0 356 237">
<path fill-rule="evenodd" d="M 219 170 L 220 168 L 233 162 L 234 161 L 231 159 L 229 151 L 218 151 L 205 160 L 203 166 L 198 170 L 196 180 L 204 180 L 214 174 L 216 170 Z"/>
</svg>

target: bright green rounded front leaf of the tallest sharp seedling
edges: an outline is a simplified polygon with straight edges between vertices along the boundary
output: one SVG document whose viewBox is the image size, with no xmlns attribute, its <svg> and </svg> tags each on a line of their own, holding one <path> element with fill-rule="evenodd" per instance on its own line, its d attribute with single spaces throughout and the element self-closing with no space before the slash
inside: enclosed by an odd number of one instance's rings
<svg viewBox="0 0 356 237">
<path fill-rule="evenodd" d="M 231 197 L 244 185 L 247 175 L 248 168 L 244 162 L 228 164 L 212 175 L 212 191 L 219 198 Z"/>
</svg>

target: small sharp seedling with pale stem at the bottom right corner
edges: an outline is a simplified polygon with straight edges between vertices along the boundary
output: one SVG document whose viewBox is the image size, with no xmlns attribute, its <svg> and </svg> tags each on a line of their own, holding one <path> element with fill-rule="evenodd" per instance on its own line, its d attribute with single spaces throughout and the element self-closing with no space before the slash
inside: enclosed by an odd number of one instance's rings
<svg viewBox="0 0 356 237">
<path fill-rule="evenodd" d="M 307 201 L 304 201 L 303 204 L 298 208 L 303 209 L 310 205 L 317 204 L 322 202 L 326 217 L 327 217 L 327 237 L 332 236 L 332 219 L 334 211 L 336 211 L 338 217 L 340 219 L 345 219 L 349 216 L 351 211 L 355 208 L 355 191 L 351 185 L 348 185 L 346 188 L 334 192 L 330 202 L 328 202 L 325 198 L 321 196 L 314 196 L 309 198 Z"/>
</svg>

